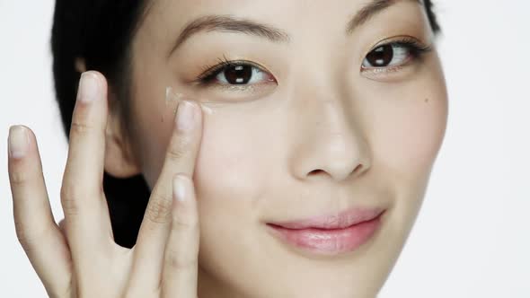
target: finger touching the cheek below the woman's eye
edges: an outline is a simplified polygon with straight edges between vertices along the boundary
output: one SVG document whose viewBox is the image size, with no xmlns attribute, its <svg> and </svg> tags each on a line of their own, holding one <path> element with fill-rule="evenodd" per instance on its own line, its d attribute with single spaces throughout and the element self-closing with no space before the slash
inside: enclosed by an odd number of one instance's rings
<svg viewBox="0 0 530 298">
<path fill-rule="evenodd" d="M 172 223 L 172 178 L 193 177 L 202 137 L 202 110 L 197 102 L 181 101 L 163 169 L 146 207 L 135 246 L 132 280 L 157 288 L 163 268 L 163 251 Z M 134 282 L 133 282 L 134 283 Z"/>
</svg>

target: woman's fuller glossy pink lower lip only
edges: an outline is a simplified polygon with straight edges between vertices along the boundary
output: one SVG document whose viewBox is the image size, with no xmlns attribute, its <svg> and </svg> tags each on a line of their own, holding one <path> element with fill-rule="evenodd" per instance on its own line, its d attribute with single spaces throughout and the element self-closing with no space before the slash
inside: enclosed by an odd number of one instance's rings
<svg viewBox="0 0 530 298">
<path fill-rule="evenodd" d="M 343 229 L 286 229 L 268 224 L 272 232 L 288 244 L 317 254 L 335 255 L 352 250 L 367 242 L 381 224 L 381 215 Z"/>
</svg>

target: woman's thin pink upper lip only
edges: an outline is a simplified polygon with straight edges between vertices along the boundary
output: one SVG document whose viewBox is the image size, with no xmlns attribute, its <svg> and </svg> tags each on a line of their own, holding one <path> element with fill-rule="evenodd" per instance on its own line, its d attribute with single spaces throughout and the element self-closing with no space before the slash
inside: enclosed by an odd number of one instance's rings
<svg viewBox="0 0 530 298">
<path fill-rule="evenodd" d="M 320 215 L 301 220 L 288 222 L 274 222 L 271 225 L 277 225 L 286 229 L 302 230 L 302 229 L 344 229 L 350 225 L 370 221 L 384 213 L 384 208 L 363 208 L 352 207 L 341 211 L 336 215 Z"/>
</svg>

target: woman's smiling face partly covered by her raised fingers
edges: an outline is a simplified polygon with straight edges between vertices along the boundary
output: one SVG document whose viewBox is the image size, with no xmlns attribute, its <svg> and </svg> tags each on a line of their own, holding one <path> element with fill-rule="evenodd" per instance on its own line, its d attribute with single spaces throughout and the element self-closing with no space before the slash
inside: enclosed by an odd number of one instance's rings
<svg viewBox="0 0 530 298">
<path fill-rule="evenodd" d="M 166 87 L 211 110 L 193 177 L 200 297 L 375 296 L 445 135 L 446 85 L 436 48 L 426 49 L 433 38 L 414 0 L 148 5 L 131 100 L 151 188 L 176 106 Z M 385 210 L 360 246 L 367 227 L 335 238 L 291 230 L 287 240 L 268 224 L 357 207 Z"/>
</svg>

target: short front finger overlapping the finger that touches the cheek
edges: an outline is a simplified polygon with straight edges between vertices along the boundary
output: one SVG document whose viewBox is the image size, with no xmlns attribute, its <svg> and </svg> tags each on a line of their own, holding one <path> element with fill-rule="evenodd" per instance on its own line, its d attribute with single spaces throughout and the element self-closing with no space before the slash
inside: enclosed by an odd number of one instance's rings
<svg viewBox="0 0 530 298">
<path fill-rule="evenodd" d="M 172 225 L 164 252 L 162 296 L 197 297 L 199 215 L 193 181 L 173 180 Z"/>
</svg>

